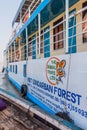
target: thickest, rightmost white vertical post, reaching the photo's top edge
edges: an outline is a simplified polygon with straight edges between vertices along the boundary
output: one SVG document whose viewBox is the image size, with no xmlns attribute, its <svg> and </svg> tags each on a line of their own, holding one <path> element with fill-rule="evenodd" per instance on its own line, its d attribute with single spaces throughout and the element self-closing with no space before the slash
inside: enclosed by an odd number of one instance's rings
<svg viewBox="0 0 87 130">
<path fill-rule="evenodd" d="M 66 0 L 66 53 L 68 53 L 69 0 Z"/>
</svg>

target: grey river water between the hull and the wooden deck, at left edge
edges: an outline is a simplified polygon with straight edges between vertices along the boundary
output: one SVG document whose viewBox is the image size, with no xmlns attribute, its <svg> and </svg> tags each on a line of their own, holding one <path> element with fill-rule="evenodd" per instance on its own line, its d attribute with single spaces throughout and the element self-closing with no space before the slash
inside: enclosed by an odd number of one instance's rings
<svg viewBox="0 0 87 130">
<path fill-rule="evenodd" d="M 5 89 L 6 91 L 16 95 L 17 97 L 20 97 L 19 91 L 11 82 L 9 82 L 4 73 L 0 73 L 0 88 Z"/>
</svg>

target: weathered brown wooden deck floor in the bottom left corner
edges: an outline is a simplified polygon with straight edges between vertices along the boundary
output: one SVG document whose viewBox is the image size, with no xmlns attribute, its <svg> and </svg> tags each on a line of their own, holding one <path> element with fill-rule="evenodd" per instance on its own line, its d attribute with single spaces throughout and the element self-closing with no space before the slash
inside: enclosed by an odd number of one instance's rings
<svg viewBox="0 0 87 130">
<path fill-rule="evenodd" d="M 0 130 L 43 130 L 29 120 L 26 113 L 13 105 L 0 111 Z"/>
</svg>

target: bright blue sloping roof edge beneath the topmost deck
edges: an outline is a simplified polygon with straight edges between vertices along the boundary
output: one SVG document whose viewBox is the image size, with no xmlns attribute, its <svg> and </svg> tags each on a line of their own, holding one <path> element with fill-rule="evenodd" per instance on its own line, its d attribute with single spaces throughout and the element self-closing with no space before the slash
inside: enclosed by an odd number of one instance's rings
<svg viewBox="0 0 87 130">
<path fill-rule="evenodd" d="M 34 18 L 38 15 L 38 13 L 40 13 L 45 6 L 50 2 L 51 0 L 44 0 L 38 7 L 37 9 L 34 11 L 34 13 L 31 15 L 31 17 L 29 18 L 29 20 L 23 25 L 23 27 L 19 30 L 19 32 L 15 35 L 15 37 L 11 40 L 10 44 L 16 39 L 17 36 L 20 35 L 20 33 L 34 20 Z"/>
</svg>

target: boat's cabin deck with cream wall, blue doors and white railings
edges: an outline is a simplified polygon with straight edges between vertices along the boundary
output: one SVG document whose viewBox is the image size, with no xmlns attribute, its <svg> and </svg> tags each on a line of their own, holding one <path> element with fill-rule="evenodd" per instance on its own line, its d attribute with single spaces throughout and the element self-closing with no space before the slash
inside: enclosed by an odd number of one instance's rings
<svg viewBox="0 0 87 130">
<path fill-rule="evenodd" d="M 87 1 L 69 0 L 68 4 L 66 10 L 65 0 L 43 0 L 9 42 L 8 63 L 15 61 L 17 51 L 18 61 L 86 51 Z"/>
</svg>

